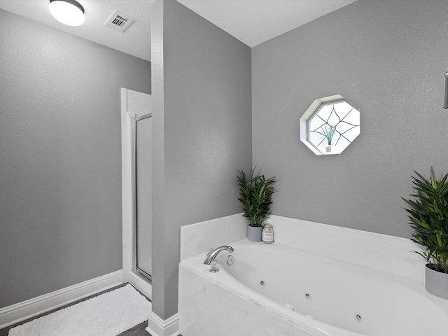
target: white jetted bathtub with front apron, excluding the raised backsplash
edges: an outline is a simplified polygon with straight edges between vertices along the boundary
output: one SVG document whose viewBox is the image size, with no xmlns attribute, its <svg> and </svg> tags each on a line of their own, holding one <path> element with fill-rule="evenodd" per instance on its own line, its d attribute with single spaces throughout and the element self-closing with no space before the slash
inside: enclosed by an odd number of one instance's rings
<svg viewBox="0 0 448 336">
<path fill-rule="evenodd" d="M 424 283 L 300 251 L 247 240 L 179 265 L 183 336 L 447 336 L 448 305 Z"/>
</svg>

